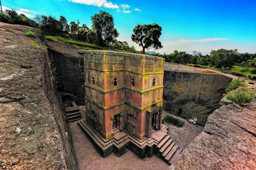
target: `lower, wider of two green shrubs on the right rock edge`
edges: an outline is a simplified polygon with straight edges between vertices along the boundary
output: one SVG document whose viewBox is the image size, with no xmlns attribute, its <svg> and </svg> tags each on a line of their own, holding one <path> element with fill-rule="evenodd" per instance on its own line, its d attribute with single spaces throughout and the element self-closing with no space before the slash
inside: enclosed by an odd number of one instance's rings
<svg viewBox="0 0 256 170">
<path fill-rule="evenodd" d="M 249 91 L 241 91 L 238 90 L 234 94 L 228 93 L 226 95 L 227 99 L 234 101 L 235 103 L 238 104 L 244 104 L 244 103 L 249 103 L 252 101 L 254 98 L 254 94 Z"/>
</svg>

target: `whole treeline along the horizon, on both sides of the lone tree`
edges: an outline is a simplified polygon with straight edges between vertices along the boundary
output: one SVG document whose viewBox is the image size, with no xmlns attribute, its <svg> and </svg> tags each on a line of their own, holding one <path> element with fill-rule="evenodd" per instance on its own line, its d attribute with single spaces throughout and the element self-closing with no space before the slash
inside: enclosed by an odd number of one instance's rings
<svg viewBox="0 0 256 170">
<path fill-rule="evenodd" d="M 24 14 L 18 15 L 15 10 L 6 10 L 0 13 L 0 22 L 9 24 L 27 25 L 39 28 L 44 31 L 45 35 L 62 36 L 82 42 L 106 46 L 109 49 L 119 49 L 133 53 L 142 53 L 136 51 L 135 47 L 129 46 L 126 41 L 117 41 L 118 31 L 114 28 L 113 16 L 105 11 L 91 16 L 92 29 L 86 24 L 79 24 L 75 21 L 67 23 L 64 16 L 60 16 L 59 20 L 52 16 L 36 15 L 34 21 L 28 19 Z M 237 49 L 218 49 L 212 50 L 210 55 L 202 55 L 201 52 L 193 51 L 188 54 L 185 51 L 174 50 L 171 54 L 152 54 L 165 58 L 166 62 L 173 63 L 191 63 L 198 65 L 210 65 L 217 68 L 231 68 L 234 65 L 256 67 L 256 54 L 239 53 Z"/>
</svg>

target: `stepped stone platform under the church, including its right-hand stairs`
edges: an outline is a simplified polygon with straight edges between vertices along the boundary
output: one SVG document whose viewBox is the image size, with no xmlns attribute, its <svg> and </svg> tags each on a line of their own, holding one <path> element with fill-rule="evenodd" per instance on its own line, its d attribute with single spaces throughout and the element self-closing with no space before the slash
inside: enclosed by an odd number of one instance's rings
<svg viewBox="0 0 256 170">
<path fill-rule="evenodd" d="M 152 129 L 151 137 L 144 137 L 143 139 L 134 137 L 125 129 L 105 139 L 97 130 L 93 130 L 85 120 L 78 121 L 77 124 L 92 139 L 102 157 L 106 157 L 112 152 L 115 152 L 117 156 L 121 156 L 131 149 L 141 159 L 156 154 L 171 164 L 182 152 L 182 148 L 168 135 L 168 127 L 163 124 L 161 130 Z"/>
</svg>

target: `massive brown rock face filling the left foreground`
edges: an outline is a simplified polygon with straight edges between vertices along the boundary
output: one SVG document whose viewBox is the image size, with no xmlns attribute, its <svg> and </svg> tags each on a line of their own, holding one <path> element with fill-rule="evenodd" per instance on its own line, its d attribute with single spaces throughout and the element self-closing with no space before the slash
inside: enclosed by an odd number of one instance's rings
<svg viewBox="0 0 256 170">
<path fill-rule="evenodd" d="M 25 36 L 28 30 L 37 36 Z M 0 22 L 2 169 L 77 169 L 42 41 L 44 36 L 38 29 Z"/>
</svg>

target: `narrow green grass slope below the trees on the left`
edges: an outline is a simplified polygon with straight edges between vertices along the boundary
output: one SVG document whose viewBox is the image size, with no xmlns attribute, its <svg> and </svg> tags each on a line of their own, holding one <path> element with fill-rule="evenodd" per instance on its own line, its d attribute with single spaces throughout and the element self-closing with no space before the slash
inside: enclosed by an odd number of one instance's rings
<svg viewBox="0 0 256 170">
<path fill-rule="evenodd" d="M 76 41 L 76 40 L 73 40 L 70 38 L 64 38 L 61 36 L 45 36 L 45 39 L 52 42 L 60 42 L 64 44 L 74 45 L 76 47 L 86 49 L 86 50 L 112 50 L 112 51 L 119 51 L 119 52 L 128 52 L 128 51 L 122 51 L 118 49 L 110 49 L 107 47 L 102 47 L 102 46 L 90 44 L 87 42 Z"/>
</svg>

